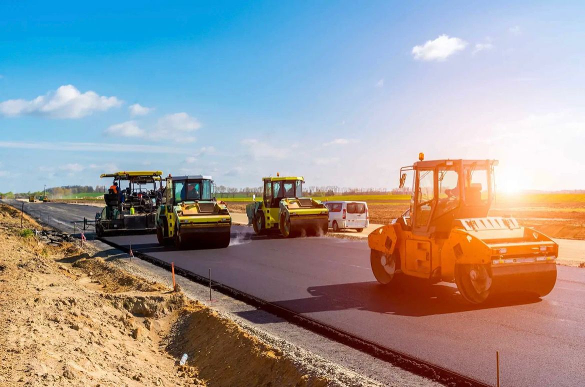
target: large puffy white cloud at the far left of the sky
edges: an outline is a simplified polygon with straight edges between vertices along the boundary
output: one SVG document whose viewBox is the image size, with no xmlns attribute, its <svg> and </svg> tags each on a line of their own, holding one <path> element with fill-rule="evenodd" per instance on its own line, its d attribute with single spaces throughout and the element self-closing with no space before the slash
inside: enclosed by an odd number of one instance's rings
<svg viewBox="0 0 585 387">
<path fill-rule="evenodd" d="M 0 102 L 0 114 L 8 117 L 22 115 L 49 118 L 82 118 L 122 105 L 115 96 L 100 96 L 93 91 L 81 93 L 73 85 L 63 85 L 56 91 L 35 99 L 9 99 Z"/>
</svg>

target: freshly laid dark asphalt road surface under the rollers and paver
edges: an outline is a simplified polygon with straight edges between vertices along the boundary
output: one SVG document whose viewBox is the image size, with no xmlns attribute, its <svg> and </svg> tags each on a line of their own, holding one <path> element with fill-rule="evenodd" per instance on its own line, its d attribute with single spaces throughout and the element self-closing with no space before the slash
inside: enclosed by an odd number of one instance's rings
<svg viewBox="0 0 585 387">
<path fill-rule="evenodd" d="M 26 203 L 60 223 L 93 219 L 97 209 Z M 44 219 L 43 219 L 44 220 Z M 57 222 L 59 223 L 59 222 Z M 71 229 L 66 229 L 70 231 Z M 585 380 L 585 270 L 558 266 L 542 299 L 467 306 L 455 285 L 408 283 L 389 291 L 371 274 L 364 241 L 331 237 L 285 240 L 232 226 L 225 249 L 174 250 L 154 235 L 108 237 L 119 246 L 207 276 L 329 326 L 479 381 L 503 386 L 577 386 Z M 254 315 L 243 316 L 254 320 Z"/>
</svg>

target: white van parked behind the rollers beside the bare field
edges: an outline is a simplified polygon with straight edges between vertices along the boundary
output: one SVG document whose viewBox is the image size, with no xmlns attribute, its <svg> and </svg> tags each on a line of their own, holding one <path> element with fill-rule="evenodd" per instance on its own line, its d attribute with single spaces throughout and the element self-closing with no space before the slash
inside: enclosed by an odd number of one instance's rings
<svg viewBox="0 0 585 387">
<path fill-rule="evenodd" d="M 370 224 L 366 202 L 331 201 L 323 204 L 329 209 L 329 228 L 334 232 L 355 229 L 361 233 Z"/>
</svg>

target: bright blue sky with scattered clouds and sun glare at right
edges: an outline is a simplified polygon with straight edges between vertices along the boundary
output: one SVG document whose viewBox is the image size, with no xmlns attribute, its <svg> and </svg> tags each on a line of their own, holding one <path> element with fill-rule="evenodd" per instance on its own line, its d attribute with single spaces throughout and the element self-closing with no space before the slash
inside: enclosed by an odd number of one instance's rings
<svg viewBox="0 0 585 387">
<path fill-rule="evenodd" d="M 0 4 L 0 191 L 112 170 L 387 187 L 424 151 L 585 188 L 580 2 Z"/>
</svg>

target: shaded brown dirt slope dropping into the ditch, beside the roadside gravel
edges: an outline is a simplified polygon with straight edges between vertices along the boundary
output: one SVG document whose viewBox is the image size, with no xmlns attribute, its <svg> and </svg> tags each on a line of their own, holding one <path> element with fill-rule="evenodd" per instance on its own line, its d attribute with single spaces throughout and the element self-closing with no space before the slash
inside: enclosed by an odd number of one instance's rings
<svg viewBox="0 0 585 387">
<path fill-rule="evenodd" d="M 217 386 L 326 386 L 328 380 L 304 375 L 280 350 L 271 348 L 208 307 L 190 303 L 166 339 L 166 350 Z"/>
</svg>

